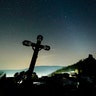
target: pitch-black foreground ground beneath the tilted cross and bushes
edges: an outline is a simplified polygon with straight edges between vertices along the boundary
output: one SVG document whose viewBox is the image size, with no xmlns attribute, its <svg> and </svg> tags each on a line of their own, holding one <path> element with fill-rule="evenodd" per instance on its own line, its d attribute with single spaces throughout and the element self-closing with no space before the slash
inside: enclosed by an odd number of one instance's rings
<svg viewBox="0 0 96 96">
<path fill-rule="evenodd" d="M 71 82 L 72 81 L 72 82 Z M 0 80 L 0 96 L 96 96 L 92 82 L 61 79 L 44 79 L 14 82 L 14 78 Z"/>
</svg>

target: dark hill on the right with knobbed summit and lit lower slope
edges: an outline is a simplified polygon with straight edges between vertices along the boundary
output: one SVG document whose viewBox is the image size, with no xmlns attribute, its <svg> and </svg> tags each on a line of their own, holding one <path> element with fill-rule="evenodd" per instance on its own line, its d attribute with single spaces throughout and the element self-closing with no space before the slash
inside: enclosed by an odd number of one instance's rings
<svg viewBox="0 0 96 96">
<path fill-rule="evenodd" d="M 80 60 L 77 63 L 72 64 L 70 66 L 56 70 L 50 75 L 62 74 L 66 72 L 67 73 L 75 72 L 77 74 L 84 74 L 84 75 L 96 75 L 96 59 L 93 57 L 93 55 L 89 54 L 87 58 Z"/>
</svg>

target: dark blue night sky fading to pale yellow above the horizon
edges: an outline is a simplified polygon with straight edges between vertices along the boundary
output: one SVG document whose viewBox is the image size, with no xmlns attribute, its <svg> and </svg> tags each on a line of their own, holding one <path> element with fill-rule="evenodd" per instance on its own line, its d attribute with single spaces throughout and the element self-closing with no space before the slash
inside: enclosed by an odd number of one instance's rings
<svg viewBox="0 0 96 96">
<path fill-rule="evenodd" d="M 96 58 L 96 0 L 0 0 L 0 69 L 28 68 L 33 50 L 22 41 L 43 35 L 36 66 L 67 66 Z"/>
</svg>

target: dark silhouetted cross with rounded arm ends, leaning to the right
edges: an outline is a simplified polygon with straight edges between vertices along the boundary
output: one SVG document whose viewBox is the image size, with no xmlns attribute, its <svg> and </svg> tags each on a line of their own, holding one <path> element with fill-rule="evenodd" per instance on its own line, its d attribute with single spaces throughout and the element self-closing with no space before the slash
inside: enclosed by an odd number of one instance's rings
<svg viewBox="0 0 96 96">
<path fill-rule="evenodd" d="M 27 71 L 27 76 L 28 78 L 31 78 L 32 76 L 32 73 L 33 73 L 33 70 L 34 70 L 34 67 L 35 67 L 35 63 L 36 63 L 36 59 L 38 57 L 38 52 L 41 50 L 41 49 L 44 49 L 44 50 L 50 50 L 50 46 L 47 46 L 47 45 L 41 45 L 41 41 L 43 40 L 43 36 L 42 35 L 38 35 L 37 36 L 37 42 L 36 43 L 33 43 L 31 41 L 28 41 L 28 40 L 24 40 L 22 43 L 23 45 L 25 46 L 31 46 L 34 53 L 33 53 L 33 57 L 31 59 L 31 63 L 30 63 L 30 66 L 29 66 L 29 69 Z"/>
</svg>

